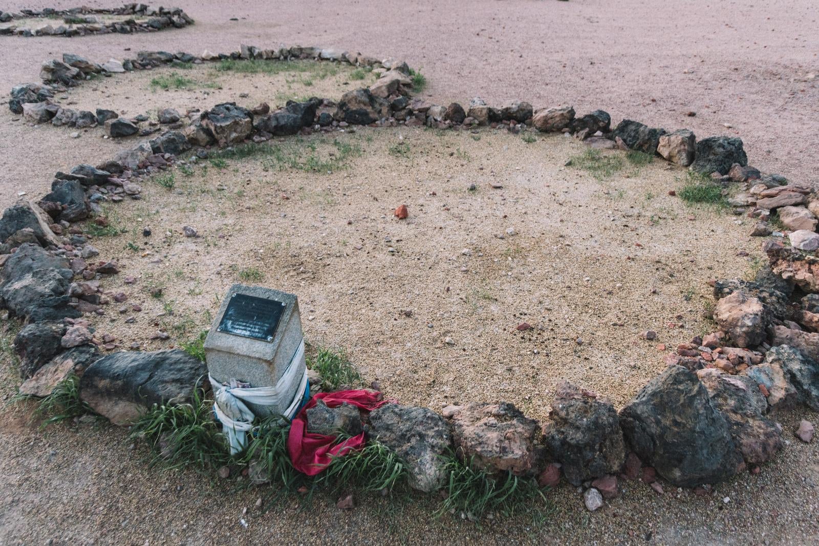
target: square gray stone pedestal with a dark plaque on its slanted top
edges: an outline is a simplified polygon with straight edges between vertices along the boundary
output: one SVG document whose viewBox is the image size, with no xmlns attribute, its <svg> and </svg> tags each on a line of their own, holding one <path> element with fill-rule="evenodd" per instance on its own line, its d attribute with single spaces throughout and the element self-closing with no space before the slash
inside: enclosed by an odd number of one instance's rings
<svg viewBox="0 0 819 546">
<path fill-rule="evenodd" d="M 304 334 L 299 303 L 292 293 L 233 284 L 205 339 L 212 380 L 233 389 L 275 387 L 260 398 L 242 396 L 256 416 L 288 414 L 305 396 Z M 269 403 L 258 403 L 264 400 Z M 295 411 L 295 410 L 292 410 Z"/>
</svg>

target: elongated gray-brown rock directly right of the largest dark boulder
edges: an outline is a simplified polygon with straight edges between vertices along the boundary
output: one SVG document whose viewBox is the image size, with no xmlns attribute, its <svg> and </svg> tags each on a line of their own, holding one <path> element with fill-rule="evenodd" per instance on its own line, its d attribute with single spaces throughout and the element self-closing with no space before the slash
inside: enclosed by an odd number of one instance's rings
<svg viewBox="0 0 819 546">
<path fill-rule="evenodd" d="M 782 447 L 779 427 L 767 419 L 767 400 L 756 380 L 745 375 L 726 375 L 716 369 L 700 370 L 699 380 L 712 403 L 725 414 L 731 437 L 745 462 L 767 462 Z"/>
</svg>

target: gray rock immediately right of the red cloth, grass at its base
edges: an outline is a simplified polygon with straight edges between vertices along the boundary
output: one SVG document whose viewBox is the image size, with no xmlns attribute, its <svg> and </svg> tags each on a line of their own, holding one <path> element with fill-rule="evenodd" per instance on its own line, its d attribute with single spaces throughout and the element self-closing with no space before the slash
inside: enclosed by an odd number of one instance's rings
<svg viewBox="0 0 819 546">
<path fill-rule="evenodd" d="M 443 455 L 452 435 L 442 416 L 426 407 L 386 404 L 370 412 L 367 432 L 405 463 L 410 487 L 429 493 L 444 485 Z"/>
</svg>

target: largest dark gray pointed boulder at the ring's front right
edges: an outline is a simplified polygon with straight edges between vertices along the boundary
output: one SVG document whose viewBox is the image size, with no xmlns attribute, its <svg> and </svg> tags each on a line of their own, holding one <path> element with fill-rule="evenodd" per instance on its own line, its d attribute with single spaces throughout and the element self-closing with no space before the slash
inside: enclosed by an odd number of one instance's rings
<svg viewBox="0 0 819 546">
<path fill-rule="evenodd" d="M 620 423 L 637 456 L 674 485 L 717 483 L 742 462 L 726 416 L 682 366 L 649 381 L 622 408 Z"/>
</svg>

